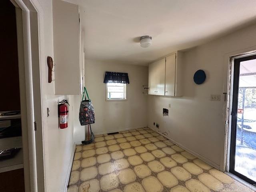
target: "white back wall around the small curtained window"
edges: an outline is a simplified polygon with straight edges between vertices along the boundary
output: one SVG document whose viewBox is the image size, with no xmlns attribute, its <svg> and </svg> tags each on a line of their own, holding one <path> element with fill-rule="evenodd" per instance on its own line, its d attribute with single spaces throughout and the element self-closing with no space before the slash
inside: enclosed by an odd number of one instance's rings
<svg viewBox="0 0 256 192">
<path fill-rule="evenodd" d="M 106 71 L 128 73 L 127 101 L 106 101 L 106 84 L 103 83 Z M 142 85 L 148 84 L 148 67 L 85 60 L 85 84 L 95 110 L 94 134 L 146 126 L 147 95 L 142 94 Z M 75 120 L 78 121 L 78 117 Z M 75 128 L 77 142 L 84 140 L 83 130 L 81 126 Z"/>
</svg>

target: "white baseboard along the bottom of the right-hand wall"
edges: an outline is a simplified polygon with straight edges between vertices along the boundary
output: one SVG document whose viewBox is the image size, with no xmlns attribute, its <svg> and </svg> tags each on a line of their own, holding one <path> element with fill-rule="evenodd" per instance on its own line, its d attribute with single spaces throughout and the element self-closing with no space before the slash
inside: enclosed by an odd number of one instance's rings
<svg viewBox="0 0 256 192">
<path fill-rule="evenodd" d="M 186 146 L 180 144 L 179 142 L 169 138 L 168 136 L 162 134 L 159 130 L 153 129 L 150 126 L 148 126 L 148 128 L 152 129 L 153 131 L 156 131 L 158 134 L 162 135 L 163 137 L 165 137 L 166 139 L 170 140 L 171 142 L 173 142 L 174 144 L 180 146 L 182 149 L 186 150 L 187 152 L 191 153 L 192 155 L 196 156 L 197 158 L 203 160 L 204 162 L 208 163 L 209 165 L 213 166 L 214 168 L 220 170 L 220 165 L 212 162 L 211 160 L 209 160 L 208 158 L 198 154 L 197 152 L 194 152 L 193 150 L 190 150 L 189 148 L 187 148 Z"/>
</svg>

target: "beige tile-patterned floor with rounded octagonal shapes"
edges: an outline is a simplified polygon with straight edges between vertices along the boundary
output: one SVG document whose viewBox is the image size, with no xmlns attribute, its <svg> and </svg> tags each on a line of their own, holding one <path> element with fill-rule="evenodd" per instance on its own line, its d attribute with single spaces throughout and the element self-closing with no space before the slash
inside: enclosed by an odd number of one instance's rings
<svg viewBox="0 0 256 192">
<path fill-rule="evenodd" d="M 68 192 L 250 191 L 149 128 L 78 145 Z"/>
</svg>

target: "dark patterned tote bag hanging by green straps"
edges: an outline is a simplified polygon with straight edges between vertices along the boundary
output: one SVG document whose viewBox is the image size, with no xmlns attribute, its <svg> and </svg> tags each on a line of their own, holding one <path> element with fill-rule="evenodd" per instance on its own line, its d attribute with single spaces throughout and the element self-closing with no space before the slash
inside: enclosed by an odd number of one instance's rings
<svg viewBox="0 0 256 192">
<path fill-rule="evenodd" d="M 88 100 L 86 100 L 86 96 L 84 95 L 85 93 Z M 82 101 L 80 104 L 79 121 L 81 125 L 92 124 L 95 122 L 94 108 L 92 106 L 92 101 L 90 100 L 88 92 L 85 87 L 84 87 Z"/>
</svg>

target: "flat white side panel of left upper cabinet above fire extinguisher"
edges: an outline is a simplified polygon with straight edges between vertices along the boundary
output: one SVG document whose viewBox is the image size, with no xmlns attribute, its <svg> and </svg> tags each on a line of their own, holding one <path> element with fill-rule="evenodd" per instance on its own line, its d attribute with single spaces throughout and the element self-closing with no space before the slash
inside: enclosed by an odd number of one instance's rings
<svg viewBox="0 0 256 192">
<path fill-rule="evenodd" d="M 54 84 L 56 95 L 78 95 L 81 89 L 81 59 L 78 6 L 52 1 Z"/>
</svg>

